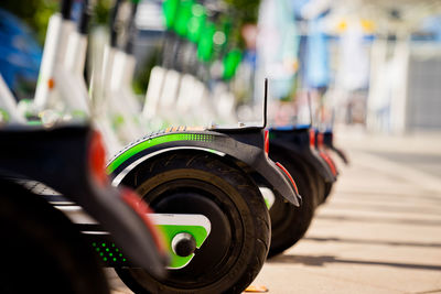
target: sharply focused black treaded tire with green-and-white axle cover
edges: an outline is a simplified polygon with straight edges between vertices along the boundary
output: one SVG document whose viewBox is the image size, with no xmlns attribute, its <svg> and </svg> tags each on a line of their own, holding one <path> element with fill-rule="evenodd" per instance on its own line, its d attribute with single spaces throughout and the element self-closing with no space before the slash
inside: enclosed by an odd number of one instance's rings
<svg viewBox="0 0 441 294">
<path fill-rule="evenodd" d="M 232 238 L 228 246 L 223 247 L 227 248 L 223 258 L 214 260 L 211 254 L 204 255 L 208 250 L 217 250 L 214 249 L 218 247 L 215 241 L 220 237 L 216 237 L 217 225 L 212 214 L 200 211 L 190 204 L 185 207 L 185 202 L 178 210 L 160 210 L 205 215 L 212 222 L 212 232 L 191 263 L 181 270 L 169 270 L 165 280 L 159 281 L 141 269 L 117 269 L 118 275 L 133 292 L 240 293 L 259 273 L 269 250 L 269 214 L 257 185 L 233 163 L 206 152 L 162 154 L 128 175 L 123 184 L 136 188 L 157 210 L 155 206 L 161 202 L 181 197 L 174 196 L 178 193 L 197 193 L 197 197 L 215 204 L 216 209 L 227 217 L 228 221 L 223 224 L 227 224 L 230 236 L 225 239 Z"/>
</svg>

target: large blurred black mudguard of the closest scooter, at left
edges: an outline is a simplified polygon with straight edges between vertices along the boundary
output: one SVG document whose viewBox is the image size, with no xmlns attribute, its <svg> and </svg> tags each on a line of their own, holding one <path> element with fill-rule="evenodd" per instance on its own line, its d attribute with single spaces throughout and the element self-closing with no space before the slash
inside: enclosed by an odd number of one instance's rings
<svg viewBox="0 0 441 294">
<path fill-rule="evenodd" d="M 163 260 L 146 224 L 110 185 L 96 181 L 90 164 L 95 132 L 87 126 L 10 127 L 0 131 L 0 176 L 37 181 L 82 206 L 137 266 L 157 276 Z M 92 142 L 92 143 L 90 143 Z M 13 181 L 13 179 L 12 179 Z M 115 244 L 114 244 L 115 246 Z"/>
</svg>

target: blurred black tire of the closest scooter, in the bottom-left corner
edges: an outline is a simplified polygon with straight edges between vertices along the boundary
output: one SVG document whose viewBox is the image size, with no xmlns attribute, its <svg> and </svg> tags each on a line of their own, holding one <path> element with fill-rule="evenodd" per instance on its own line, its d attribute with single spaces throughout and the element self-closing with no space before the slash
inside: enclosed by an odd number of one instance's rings
<svg viewBox="0 0 441 294">
<path fill-rule="evenodd" d="M 92 248 L 60 210 L 17 184 L 0 187 L 0 293 L 109 293 Z"/>
</svg>

